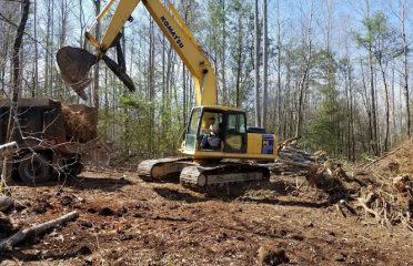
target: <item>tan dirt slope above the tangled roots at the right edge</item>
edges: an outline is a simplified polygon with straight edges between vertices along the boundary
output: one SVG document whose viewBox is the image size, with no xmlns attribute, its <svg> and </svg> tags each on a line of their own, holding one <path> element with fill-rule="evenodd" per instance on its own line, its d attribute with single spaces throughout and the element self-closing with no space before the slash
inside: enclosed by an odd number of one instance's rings
<svg viewBox="0 0 413 266">
<path fill-rule="evenodd" d="M 369 165 L 367 170 L 380 173 L 384 177 L 399 174 L 413 176 L 413 140 L 405 141 L 384 157 Z"/>
</svg>

